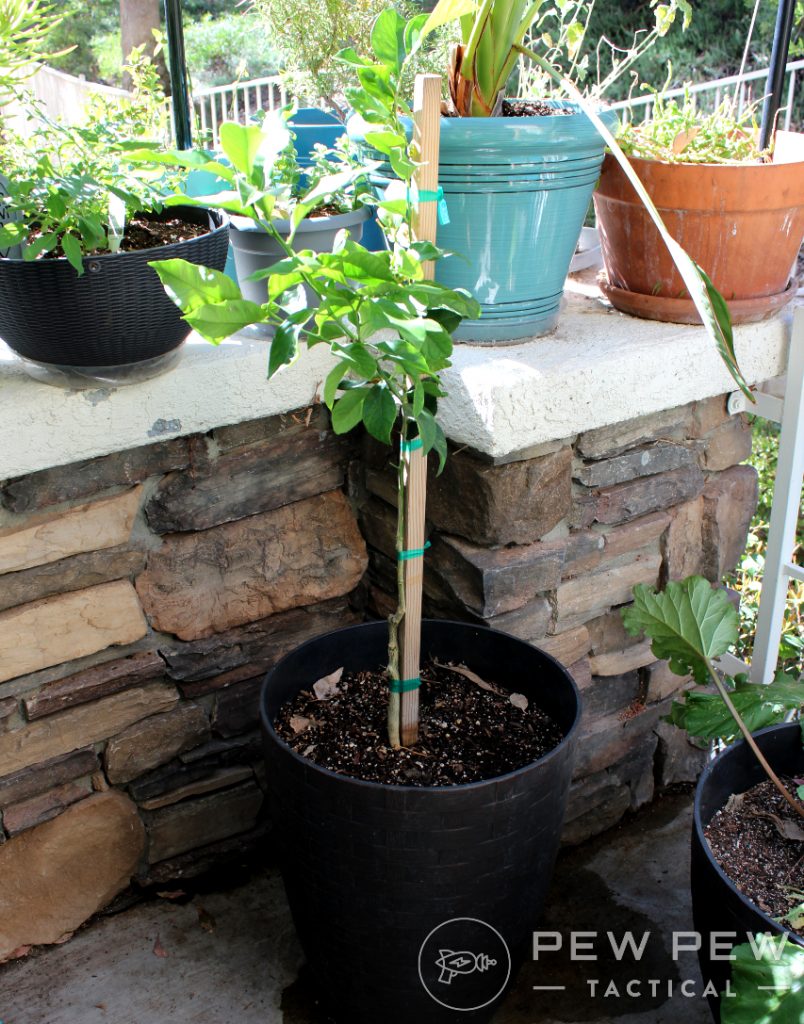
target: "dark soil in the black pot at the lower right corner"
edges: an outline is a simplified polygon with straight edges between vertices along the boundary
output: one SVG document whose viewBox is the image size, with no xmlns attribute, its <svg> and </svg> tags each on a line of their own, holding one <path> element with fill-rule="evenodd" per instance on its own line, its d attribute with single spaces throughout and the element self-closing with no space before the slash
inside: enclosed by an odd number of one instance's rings
<svg viewBox="0 0 804 1024">
<path fill-rule="evenodd" d="M 782 777 L 781 781 L 791 794 L 801 784 L 801 779 Z M 804 903 L 804 840 L 785 838 L 774 818 L 782 827 L 798 826 L 804 835 L 804 818 L 772 782 L 760 782 L 740 797 L 732 797 L 712 818 L 705 835 L 715 859 L 737 889 L 769 916 L 781 918 Z M 792 931 L 804 938 L 804 921 Z"/>
</svg>

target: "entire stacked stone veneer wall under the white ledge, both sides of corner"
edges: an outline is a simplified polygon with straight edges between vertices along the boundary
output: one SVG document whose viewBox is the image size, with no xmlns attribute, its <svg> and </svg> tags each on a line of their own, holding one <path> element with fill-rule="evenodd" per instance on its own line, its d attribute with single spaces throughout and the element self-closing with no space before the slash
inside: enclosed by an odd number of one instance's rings
<svg viewBox="0 0 804 1024">
<path fill-rule="evenodd" d="M 570 842 L 694 770 L 659 724 L 683 681 L 617 609 L 735 563 L 749 451 L 712 399 L 431 481 L 428 610 L 539 642 L 584 690 Z M 388 610 L 392 500 L 386 453 L 320 407 L 0 484 L 0 959 L 266 834 L 261 677 Z"/>
</svg>

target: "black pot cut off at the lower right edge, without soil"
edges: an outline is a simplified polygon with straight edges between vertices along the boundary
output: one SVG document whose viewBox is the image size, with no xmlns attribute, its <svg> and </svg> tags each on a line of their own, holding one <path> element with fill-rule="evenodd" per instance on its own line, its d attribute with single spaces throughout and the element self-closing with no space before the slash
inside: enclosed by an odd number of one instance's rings
<svg viewBox="0 0 804 1024">
<path fill-rule="evenodd" d="M 801 726 L 798 722 L 772 725 L 754 733 L 757 745 L 765 755 L 771 768 L 782 775 L 797 776 L 804 771 L 804 748 Z M 732 794 L 746 793 L 763 782 L 767 776 L 745 740 L 727 748 L 707 767 L 695 791 L 695 808 L 692 822 L 691 893 L 692 919 L 695 931 L 701 933 L 699 961 L 704 982 L 714 982 L 718 992 L 726 988 L 731 977 L 728 961 L 713 959 L 711 937 L 713 932 L 736 933 L 733 945 L 748 941 L 749 934 L 787 932 L 775 921 L 763 913 L 748 897 L 744 896 L 715 860 L 704 829 L 714 815 L 726 805 Z M 804 941 L 787 932 L 791 941 L 804 946 Z M 722 953 L 725 937 L 720 939 Z M 720 1021 L 720 999 L 709 997 L 715 1021 Z"/>
</svg>

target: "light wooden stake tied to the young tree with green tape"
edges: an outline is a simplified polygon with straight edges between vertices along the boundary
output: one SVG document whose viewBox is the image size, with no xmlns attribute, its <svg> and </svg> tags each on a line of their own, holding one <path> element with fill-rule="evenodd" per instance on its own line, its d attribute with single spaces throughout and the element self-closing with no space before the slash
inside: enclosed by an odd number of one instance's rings
<svg viewBox="0 0 804 1024">
<path fill-rule="evenodd" d="M 441 79 L 439 75 L 418 75 L 413 94 L 416 160 L 419 168 L 414 182 L 419 193 L 434 193 L 438 187 L 438 145 L 440 141 Z M 414 234 L 420 242 L 435 242 L 438 204 L 421 202 L 414 214 Z M 435 268 L 426 263 L 425 276 L 432 280 Z M 405 550 L 424 548 L 424 509 L 427 500 L 427 459 L 421 449 L 401 453 L 407 461 L 405 509 Z M 421 667 L 422 644 L 422 584 L 424 558 L 405 562 L 405 618 L 401 624 L 400 677 L 416 679 Z M 401 695 L 401 742 L 410 746 L 419 738 L 419 691 Z"/>
</svg>

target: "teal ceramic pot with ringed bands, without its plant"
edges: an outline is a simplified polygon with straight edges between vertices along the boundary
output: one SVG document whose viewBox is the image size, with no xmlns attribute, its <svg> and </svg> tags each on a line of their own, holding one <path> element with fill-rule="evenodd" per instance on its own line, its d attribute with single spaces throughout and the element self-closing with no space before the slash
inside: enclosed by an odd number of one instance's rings
<svg viewBox="0 0 804 1024">
<path fill-rule="evenodd" d="M 441 118 L 438 184 L 450 223 L 439 224 L 438 245 L 456 255 L 439 261 L 436 278 L 482 309 L 458 329 L 459 341 L 510 342 L 555 326 L 604 151 L 589 118 L 565 109 L 573 113 Z M 613 112 L 601 116 L 616 125 Z M 358 118 L 347 129 L 358 143 L 371 130 Z M 380 168 L 379 189 L 389 177 Z"/>
</svg>

